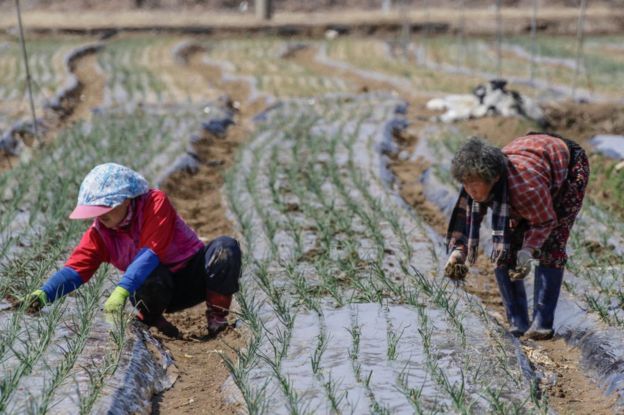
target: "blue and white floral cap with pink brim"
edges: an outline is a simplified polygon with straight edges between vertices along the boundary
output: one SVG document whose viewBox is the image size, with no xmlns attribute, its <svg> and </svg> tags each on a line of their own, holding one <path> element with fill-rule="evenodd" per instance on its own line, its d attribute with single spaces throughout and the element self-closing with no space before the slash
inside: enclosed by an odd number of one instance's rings
<svg viewBox="0 0 624 415">
<path fill-rule="evenodd" d="M 116 163 L 100 164 L 82 181 L 78 203 L 69 217 L 87 219 L 103 215 L 148 190 L 147 180 L 134 170 Z"/>
</svg>

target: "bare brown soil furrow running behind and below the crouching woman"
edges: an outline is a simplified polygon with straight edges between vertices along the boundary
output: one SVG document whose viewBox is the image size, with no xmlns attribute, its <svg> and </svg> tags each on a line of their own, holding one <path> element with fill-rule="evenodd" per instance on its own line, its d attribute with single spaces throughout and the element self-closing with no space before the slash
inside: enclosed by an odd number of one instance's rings
<svg viewBox="0 0 624 415">
<path fill-rule="evenodd" d="M 172 203 L 186 222 L 207 242 L 220 235 L 233 235 L 232 223 L 226 218 L 221 199 L 224 172 L 232 165 L 237 147 L 249 135 L 250 118 L 265 105 L 262 100 L 248 102 L 249 86 L 242 82 L 224 82 L 218 67 L 202 62 L 203 50 L 191 47 L 184 58 L 185 70 L 201 74 L 205 86 L 227 94 L 230 104 L 238 108 L 236 123 L 230 127 L 224 138 L 208 133 L 195 144 L 200 159 L 199 171 L 195 174 L 178 172 L 162 186 Z M 228 329 L 213 340 L 201 340 L 207 334 L 205 305 L 177 313 L 166 318 L 175 324 L 182 339 L 160 335 L 155 337 L 169 349 L 179 370 L 179 378 L 170 389 L 153 399 L 154 414 L 237 414 L 241 408 L 226 401 L 228 392 L 222 387 L 229 376 L 221 353 L 235 360 L 235 351 L 244 347 L 246 337 L 238 329 Z M 233 305 L 236 310 L 236 305 Z M 235 320 L 230 313 L 230 321 Z"/>
</svg>

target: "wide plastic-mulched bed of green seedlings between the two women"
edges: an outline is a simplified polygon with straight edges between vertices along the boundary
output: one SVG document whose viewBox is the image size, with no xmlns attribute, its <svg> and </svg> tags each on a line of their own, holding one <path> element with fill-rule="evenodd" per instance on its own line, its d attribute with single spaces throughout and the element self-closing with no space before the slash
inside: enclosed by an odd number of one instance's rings
<svg viewBox="0 0 624 415">
<path fill-rule="evenodd" d="M 396 105 L 283 102 L 228 176 L 253 251 L 241 301 L 254 335 L 231 363 L 253 413 L 535 407 L 500 330 L 436 279 L 418 221 L 366 185 L 360 150 L 372 151 Z M 494 356 L 484 332 L 503 345 Z"/>
</svg>

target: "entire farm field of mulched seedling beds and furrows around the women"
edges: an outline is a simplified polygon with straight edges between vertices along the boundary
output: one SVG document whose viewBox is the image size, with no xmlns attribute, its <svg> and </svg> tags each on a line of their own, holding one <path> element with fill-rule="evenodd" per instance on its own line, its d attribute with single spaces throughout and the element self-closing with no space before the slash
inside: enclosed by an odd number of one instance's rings
<svg viewBox="0 0 624 415">
<path fill-rule="evenodd" d="M 453 153 L 540 128 L 426 108 L 496 76 L 492 39 L 35 37 L 42 125 L 54 99 L 65 114 L 35 145 L 14 129 L 19 45 L 0 38 L 0 413 L 621 412 L 622 172 L 590 139 L 624 134 L 623 40 L 588 37 L 579 75 L 573 37 L 538 36 L 532 79 L 529 37 L 503 43 L 508 87 L 592 163 L 556 338 L 534 342 L 508 332 L 489 263 L 443 276 Z M 241 242 L 233 328 L 205 340 L 203 305 L 168 314 L 179 339 L 129 306 L 107 318 L 112 267 L 40 314 L 10 307 L 62 266 L 87 226 L 67 219 L 80 182 L 106 161 L 165 189 L 202 240 Z"/>
</svg>

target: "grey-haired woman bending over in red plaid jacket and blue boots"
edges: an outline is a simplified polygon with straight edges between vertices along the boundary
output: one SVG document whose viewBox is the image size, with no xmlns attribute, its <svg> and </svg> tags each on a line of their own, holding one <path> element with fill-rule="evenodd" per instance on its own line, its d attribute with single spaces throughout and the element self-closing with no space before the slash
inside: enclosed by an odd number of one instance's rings
<svg viewBox="0 0 624 415">
<path fill-rule="evenodd" d="M 551 338 L 565 248 L 589 179 L 585 151 L 552 134 L 530 133 L 502 150 L 471 138 L 455 155 L 451 173 L 462 189 L 447 233 L 446 274 L 463 278 L 465 262 L 476 261 L 479 228 L 491 208 L 491 259 L 510 331 Z M 523 278 L 532 260 L 539 265 L 529 324 Z"/>
</svg>

